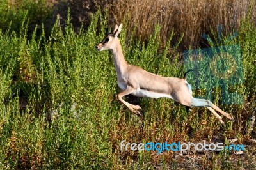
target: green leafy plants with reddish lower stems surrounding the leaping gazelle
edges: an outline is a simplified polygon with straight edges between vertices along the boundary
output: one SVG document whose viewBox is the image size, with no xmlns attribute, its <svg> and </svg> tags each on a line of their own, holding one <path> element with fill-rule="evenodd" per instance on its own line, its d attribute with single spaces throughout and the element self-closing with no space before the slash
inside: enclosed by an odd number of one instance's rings
<svg viewBox="0 0 256 170">
<path fill-rule="evenodd" d="M 211 141 L 220 136 L 225 141 L 238 138 L 239 143 L 249 143 L 248 118 L 256 98 L 256 29 L 246 19 L 239 37 L 231 42 L 241 45 L 244 69 L 244 84 L 232 90 L 241 93 L 245 102 L 222 105 L 221 89 L 213 94 L 213 102 L 235 118 L 234 122 L 225 119 L 226 125 L 206 109 L 187 113 L 184 106 L 166 98 L 141 98 L 143 121 L 117 102 L 115 95 L 120 89 L 111 53 L 95 50 L 107 26 L 100 12 L 88 30 L 79 34 L 74 33 L 70 20 L 64 30 L 57 20 L 49 37 L 42 26 L 42 33 L 38 35 L 35 29 L 28 38 L 27 21 L 25 17 L 19 33 L 0 31 L 1 169 L 154 169 L 181 164 L 173 152 L 120 151 L 124 139 L 164 143 Z M 158 51 L 159 26 L 146 44 L 128 40 L 127 23 L 123 24 L 120 40 L 129 63 L 166 77 L 183 76 L 184 64 L 175 47 L 170 50 L 166 45 Z M 174 34 L 175 30 L 170 42 Z M 28 105 L 20 108 L 22 99 L 28 100 Z M 255 144 L 248 147 L 243 164 L 237 161 L 240 157 L 221 152 L 212 153 L 211 158 L 202 156 L 200 166 L 248 168 L 255 159 L 250 154 Z"/>
</svg>

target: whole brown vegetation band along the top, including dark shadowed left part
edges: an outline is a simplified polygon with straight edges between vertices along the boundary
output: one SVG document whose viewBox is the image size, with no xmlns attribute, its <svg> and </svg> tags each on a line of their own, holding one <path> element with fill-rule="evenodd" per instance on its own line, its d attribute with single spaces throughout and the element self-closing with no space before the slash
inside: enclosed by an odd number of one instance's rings
<svg viewBox="0 0 256 170">
<path fill-rule="evenodd" d="M 108 24 L 127 21 L 128 36 L 134 36 L 148 41 L 157 24 L 161 25 L 161 41 L 165 44 L 174 29 L 178 40 L 182 34 L 182 49 L 204 45 L 202 33 L 216 31 L 218 25 L 223 25 L 223 33 L 232 33 L 239 29 L 241 20 L 250 12 L 252 7 L 252 22 L 255 20 L 255 4 L 251 0 L 108 0 L 108 1 L 58 1 L 55 12 L 65 20 L 67 8 L 71 9 L 72 23 L 79 30 L 81 23 L 87 26 L 90 23 L 90 14 L 99 7 L 108 11 Z"/>
</svg>

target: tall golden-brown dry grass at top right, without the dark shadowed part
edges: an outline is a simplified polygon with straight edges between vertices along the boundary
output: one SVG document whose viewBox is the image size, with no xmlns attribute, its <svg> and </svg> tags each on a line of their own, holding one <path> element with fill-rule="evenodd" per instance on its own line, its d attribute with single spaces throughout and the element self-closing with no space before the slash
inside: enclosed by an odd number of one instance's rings
<svg viewBox="0 0 256 170">
<path fill-rule="evenodd" d="M 253 1 L 115 1 L 109 7 L 109 23 L 121 22 L 129 16 L 128 34 L 136 26 L 136 37 L 150 41 L 149 35 L 160 24 L 161 42 L 166 43 L 172 29 L 177 31 L 173 41 L 184 33 L 181 49 L 207 45 L 201 38 L 202 33 L 211 33 L 210 28 L 223 25 L 230 33 L 240 27 L 241 20 L 253 5 L 251 21 L 255 23 L 255 4 Z"/>
</svg>

